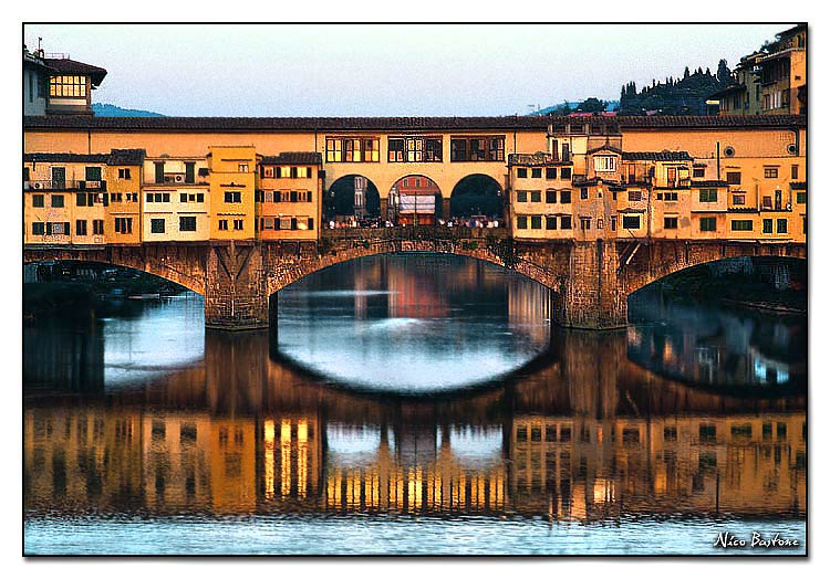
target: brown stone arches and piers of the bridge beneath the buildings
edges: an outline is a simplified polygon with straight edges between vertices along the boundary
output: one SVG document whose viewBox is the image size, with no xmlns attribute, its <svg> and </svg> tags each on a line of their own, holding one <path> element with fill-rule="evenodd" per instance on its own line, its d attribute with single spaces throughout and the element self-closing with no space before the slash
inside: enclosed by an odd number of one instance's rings
<svg viewBox="0 0 830 579">
<path fill-rule="evenodd" d="M 388 228 L 323 231 L 318 242 L 229 241 L 137 245 L 25 245 L 24 263 L 101 262 L 164 277 L 205 297 L 205 324 L 252 329 L 276 323 L 276 294 L 330 265 L 367 255 L 434 252 L 513 270 L 550 288 L 566 327 L 625 326 L 627 297 L 686 267 L 728 257 L 806 259 L 803 243 L 697 240 L 522 242 L 502 229 Z"/>
</svg>

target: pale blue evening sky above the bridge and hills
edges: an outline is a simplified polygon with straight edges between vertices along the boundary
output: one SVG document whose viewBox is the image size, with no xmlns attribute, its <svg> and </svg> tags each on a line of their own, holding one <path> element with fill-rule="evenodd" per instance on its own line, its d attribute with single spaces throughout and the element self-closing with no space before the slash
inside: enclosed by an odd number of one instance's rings
<svg viewBox="0 0 830 579">
<path fill-rule="evenodd" d="M 526 114 L 741 55 L 791 24 L 33 24 L 108 71 L 93 101 L 170 116 Z"/>
</svg>

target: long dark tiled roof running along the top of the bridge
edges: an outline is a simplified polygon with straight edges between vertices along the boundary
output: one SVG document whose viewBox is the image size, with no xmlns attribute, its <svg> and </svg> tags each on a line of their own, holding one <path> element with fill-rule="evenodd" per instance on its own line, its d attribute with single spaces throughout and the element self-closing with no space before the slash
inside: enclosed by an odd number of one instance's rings
<svg viewBox="0 0 830 579">
<path fill-rule="evenodd" d="M 585 117 L 580 123 L 609 125 L 621 129 L 663 128 L 766 128 L 806 127 L 805 115 L 754 116 L 631 116 Z M 505 117 L 86 117 L 48 115 L 24 117 L 24 129 L 55 130 L 137 130 L 137 131 L 217 131 L 217 133 L 279 133 L 279 131 L 428 131 L 428 130 L 564 130 L 568 117 L 505 116 Z"/>
</svg>

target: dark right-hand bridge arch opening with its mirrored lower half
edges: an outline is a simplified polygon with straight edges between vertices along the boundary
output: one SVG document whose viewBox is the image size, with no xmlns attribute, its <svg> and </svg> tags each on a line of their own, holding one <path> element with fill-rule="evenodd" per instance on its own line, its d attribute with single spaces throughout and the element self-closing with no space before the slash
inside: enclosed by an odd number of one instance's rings
<svg viewBox="0 0 830 579">
<path fill-rule="evenodd" d="M 779 396 L 806 387 L 807 262 L 717 260 L 629 297 L 627 356 L 702 388 Z"/>
</svg>

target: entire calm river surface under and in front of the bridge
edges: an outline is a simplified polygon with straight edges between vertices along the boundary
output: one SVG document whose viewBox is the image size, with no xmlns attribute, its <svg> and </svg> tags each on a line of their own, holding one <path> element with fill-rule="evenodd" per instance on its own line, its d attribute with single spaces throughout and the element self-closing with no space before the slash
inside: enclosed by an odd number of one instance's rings
<svg viewBox="0 0 830 579">
<path fill-rule="evenodd" d="M 271 333 L 206 333 L 194 294 L 39 319 L 25 552 L 805 552 L 803 317 L 655 290 L 587 333 L 549 304 L 404 254 L 283 290 Z"/>
</svg>

